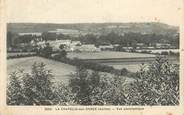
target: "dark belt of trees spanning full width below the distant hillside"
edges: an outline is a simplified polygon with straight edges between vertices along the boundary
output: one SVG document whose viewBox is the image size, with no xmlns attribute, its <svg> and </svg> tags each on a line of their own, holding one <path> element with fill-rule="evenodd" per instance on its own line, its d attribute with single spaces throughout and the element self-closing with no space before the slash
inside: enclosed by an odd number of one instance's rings
<svg viewBox="0 0 184 115">
<path fill-rule="evenodd" d="M 17 43 L 29 43 L 35 38 L 42 38 L 42 40 L 56 40 L 56 39 L 71 39 L 79 40 L 86 44 L 95 44 L 96 46 L 103 44 L 120 44 L 122 46 L 136 46 L 136 43 L 144 43 L 146 46 L 154 46 L 155 43 L 170 43 L 173 46 L 179 47 L 179 34 L 142 34 L 142 33 L 125 33 L 119 35 L 115 32 L 110 32 L 105 35 L 80 35 L 72 37 L 69 35 L 43 32 L 41 36 L 24 35 L 18 36 L 15 33 L 7 32 L 7 44 L 11 46 Z M 151 44 L 150 44 L 151 43 Z"/>
</svg>

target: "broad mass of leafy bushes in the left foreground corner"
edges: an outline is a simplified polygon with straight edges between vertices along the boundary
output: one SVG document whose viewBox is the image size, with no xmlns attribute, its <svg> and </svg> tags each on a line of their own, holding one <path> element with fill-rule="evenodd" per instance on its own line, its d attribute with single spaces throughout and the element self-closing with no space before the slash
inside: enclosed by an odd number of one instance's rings
<svg viewBox="0 0 184 115">
<path fill-rule="evenodd" d="M 66 104 L 69 93 L 64 85 L 55 89 L 52 82 L 53 75 L 50 70 L 45 69 L 43 63 L 35 63 L 32 67 L 32 73 L 12 73 L 7 89 L 7 104 L 8 105 L 57 105 Z M 60 95 L 58 95 L 58 92 Z M 61 95 L 64 93 L 64 96 Z M 59 101 L 58 101 L 59 100 Z"/>
</svg>

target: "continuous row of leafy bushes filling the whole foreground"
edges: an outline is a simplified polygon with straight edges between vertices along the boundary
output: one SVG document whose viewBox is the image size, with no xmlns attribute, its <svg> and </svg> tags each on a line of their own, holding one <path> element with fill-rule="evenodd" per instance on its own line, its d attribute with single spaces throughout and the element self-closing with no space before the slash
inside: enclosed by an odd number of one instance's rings
<svg viewBox="0 0 184 115">
<path fill-rule="evenodd" d="M 32 72 L 14 72 L 7 87 L 8 105 L 178 105 L 179 66 L 157 57 L 141 68 L 132 82 L 122 76 L 102 76 L 78 67 L 69 84 L 53 82 L 43 63 Z"/>
</svg>

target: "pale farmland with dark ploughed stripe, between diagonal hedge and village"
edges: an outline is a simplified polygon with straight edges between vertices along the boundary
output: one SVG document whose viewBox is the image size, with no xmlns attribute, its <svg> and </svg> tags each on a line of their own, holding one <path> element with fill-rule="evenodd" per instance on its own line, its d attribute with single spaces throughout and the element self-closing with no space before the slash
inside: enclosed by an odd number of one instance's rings
<svg viewBox="0 0 184 115">
<path fill-rule="evenodd" d="M 71 52 L 68 54 L 69 58 L 79 58 L 84 61 L 93 61 L 109 66 L 113 66 L 115 69 L 126 68 L 131 72 L 137 72 L 140 70 L 142 63 L 146 65 L 151 64 L 155 60 L 153 54 L 143 53 L 128 53 L 128 52 L 113 52 L 113 51 L 102 51 L 102 52 L 82 52 L 75 53 Z M 169 56 L 171 63 L 179 63 L 178 57 Z"/>
</svg>

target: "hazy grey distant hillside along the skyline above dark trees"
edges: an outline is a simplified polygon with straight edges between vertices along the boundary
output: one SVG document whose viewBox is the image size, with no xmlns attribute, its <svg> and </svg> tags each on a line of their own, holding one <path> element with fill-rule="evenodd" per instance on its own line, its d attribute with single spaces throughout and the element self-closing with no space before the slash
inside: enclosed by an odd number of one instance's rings
<svg viewBox="0 0 184 115">
<path fill-rule="evenodd" d="M 19 32 L 45 32 L 49 30 L 76 29 L 84 32 L 107 34 L 111 31 L 117 33 L 157 33 L 173 34 L 178 32 L 179 27 L 163 23 L 76 23 L 76 24 L 54 24 L 54 23 L 9 23 L 7 30 Z"/>
</svg>

